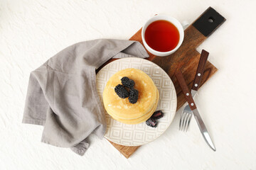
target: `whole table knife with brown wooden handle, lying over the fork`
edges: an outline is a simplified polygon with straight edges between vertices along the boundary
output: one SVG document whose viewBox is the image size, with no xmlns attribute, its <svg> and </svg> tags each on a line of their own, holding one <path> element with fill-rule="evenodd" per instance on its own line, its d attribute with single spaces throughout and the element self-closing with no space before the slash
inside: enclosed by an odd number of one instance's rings
<svg viewBox="0 0 256 170">
<path fill-rule="evenodd" d="M 215 146 L 213 144 L 213 141 L 210 138 L 210 135 L 206 129 L 206 125 L 203 123 L 203 120 L 198 112 L 198 109 L 196 108 L 196 103 L 193 101 L 193 97 L 191 95 L 191 93 L 188 90 L 188 86 L 186 85 L 186 81 L 183 77 L 183 74 L 181 73 L 181 70 L 178 69 L 175 72 L 175 76 L 178 80 L 178 83 L 181 86 L 181 89 L 183 91 L 183 94 L 186 97 L 186 100 L 188 102 L 188 106 L 191 108 L 191 111 L 193 112 L 193 115 L 196 119 L 196 123 L 198 124 L 198 127 L 201 131 L 201 134 L 203 135 L 203 139 L 206 140 L 206 143 L 208 144 L 208 146 L 213 149 L 213 151 L 216 151 Z"/>
</svg>

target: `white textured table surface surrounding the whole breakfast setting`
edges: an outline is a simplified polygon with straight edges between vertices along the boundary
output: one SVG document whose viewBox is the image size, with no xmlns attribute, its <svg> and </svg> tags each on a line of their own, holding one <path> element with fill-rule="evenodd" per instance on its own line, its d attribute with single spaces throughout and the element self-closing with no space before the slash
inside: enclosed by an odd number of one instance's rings
<svg viewBox="0 0 256 170">
<path fill-rule="evenodd" d="M 193 22 L 212 6 L 227 21 L 201 46 L 218 72 L 196 103 L 217 152 L 179 113 L 158 140 L 126 159 L 107 140 L 90 137 L 80 157 L 41 143 L 43 127 L 22 124 L 33 69 L 75 42 L 129 39 L 155 13 Z M 0 169 L 256 169 L 255 1 L 0 0 Z"/>
</svg>

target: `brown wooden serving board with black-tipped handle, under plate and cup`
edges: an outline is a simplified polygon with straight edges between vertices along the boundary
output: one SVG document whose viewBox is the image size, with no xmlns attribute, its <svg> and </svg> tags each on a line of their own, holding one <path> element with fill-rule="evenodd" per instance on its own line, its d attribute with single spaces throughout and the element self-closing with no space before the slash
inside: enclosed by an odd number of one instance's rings
<svg viewBox="0 0 256 170">
<path fill-rule="evenodd" d="M 213 8 L 209 7 L 201 16 L 199 16 L 196 21 L 194 21 L 191 26 L 188 26 L 184 31 L 184 40 L 181 47 L 178 48 L 174 54 L 167 57 L 157 57 L 152 55 L 150 52 L 147 60 L 158 64 L 164 71 L 169 74 L 171 80 L 174 83 L 176 94 L 177 94 L 177 110 L 181 108 L 184 103 L 186 103 L 186 98 L 183 95 L 178 81 L 174 76 L 176 69 L 181 69 L 183 72 L 184 79 L 191 89 L 193 84 L 193 79 L 196 74 L 196 69 L 198 61 L 200 58 L 200 53 L 196 51 L 196 47 L 201 45 L 201 43 L 208 38 L 223 22 L 225 18 L 221 16 Z M 135 33 L 129 40 L 137 40 L 142 43 L 142 29 Z M 114 60 L 109 60 L 105 64 L 112 62 Z M 104 67 L 105 64 L 102 66 Z M 203 79 L 201 81 L 201 86 L 215 73 L 217 68 L 210 62 L 206 63 L 205 71 L 203 74 Z M 128 147 L 123 145 L 110 143 L 119 150 L 124 157 L 129 158 L 140 146 Z"/>
</svg>

